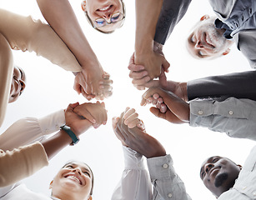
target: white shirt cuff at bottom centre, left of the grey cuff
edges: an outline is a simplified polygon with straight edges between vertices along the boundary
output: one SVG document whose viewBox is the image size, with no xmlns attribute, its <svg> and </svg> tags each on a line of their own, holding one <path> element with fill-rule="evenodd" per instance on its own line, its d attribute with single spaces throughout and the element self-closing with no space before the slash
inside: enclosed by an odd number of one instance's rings
<svg viewBox="0 0 256 200">
<path fill-rule="evenodd" d="M 145 169 L 143 155 L 123 146 L 124 169 Z"/>
</svg>

